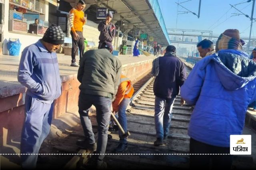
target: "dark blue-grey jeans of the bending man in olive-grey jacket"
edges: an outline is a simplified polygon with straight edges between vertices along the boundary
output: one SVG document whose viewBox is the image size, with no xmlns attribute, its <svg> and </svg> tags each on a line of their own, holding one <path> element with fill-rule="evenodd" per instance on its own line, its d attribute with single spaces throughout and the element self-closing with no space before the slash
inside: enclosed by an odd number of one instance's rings
<svg viewBox="0 0 256 170">
<path fill-rule="evenodd" d="M 112 104 L 111 98 L 86 95 L 80 93 L 78 107 L 81 124 L 84 130 L 84 136 L 88 140 L 89 144 L 95 143 L 94 133 L 92 132 L 92 123 L 89 117 L 89 108 L 94 105 L 96 107 L 96 119 L 98 123 L 98 143 L 97 143 L 97 155 L 98 161 L 102 161 L 106 152 L 106 146 L 108 142 L 108 124 L 110 121 Z"/>
</svg>

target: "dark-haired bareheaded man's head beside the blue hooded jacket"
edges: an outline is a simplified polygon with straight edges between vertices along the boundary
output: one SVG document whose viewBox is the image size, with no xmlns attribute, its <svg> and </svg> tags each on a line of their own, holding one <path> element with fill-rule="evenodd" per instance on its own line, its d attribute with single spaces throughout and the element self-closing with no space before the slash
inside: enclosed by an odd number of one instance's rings
<svg viewBox="0 0 256 170">
<path fill-rule="evenodd" d="M 215 53 L 213 42 L 207 39 L 199 42 L 196 47 L 200 53 L 200 57 L 202 58 Z"/>
</svg>

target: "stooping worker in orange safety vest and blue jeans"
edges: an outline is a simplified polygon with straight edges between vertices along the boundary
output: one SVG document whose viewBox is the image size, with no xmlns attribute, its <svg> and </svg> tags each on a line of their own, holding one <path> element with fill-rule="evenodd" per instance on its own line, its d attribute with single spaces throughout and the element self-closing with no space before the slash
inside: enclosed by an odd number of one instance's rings
<svg viewBox="0 0 256 170">
<path fill-rule="evenodd" d="M 126 120 L 126 108 L 130 103 L 134 89 L 132 82 L 124 75 L 121 75 L 120 84 L 116 93 L 116 99 L 112 103 L 113 112 L 118 112 L 118 122 L 122 126 L 125 132 L 127 132 L 127 120 Z M 121 130 L 119 130 L 119 136 L 122 136 Z M 127 138 L 119 140 L 119 144 L 116 147 L 116 153 L 122 153 L 127 150 Z"/>
</svg>

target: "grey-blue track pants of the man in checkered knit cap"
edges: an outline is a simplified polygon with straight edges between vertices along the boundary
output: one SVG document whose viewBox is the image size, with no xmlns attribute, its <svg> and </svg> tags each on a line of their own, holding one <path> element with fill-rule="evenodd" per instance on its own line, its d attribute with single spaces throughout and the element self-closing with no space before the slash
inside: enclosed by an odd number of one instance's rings
<svg viewBox="0 0 256 170">
<path fill-rule="evenodd" d="M 54 103 L 47 104 L 26 95 L 25 119 L 22 127 L 20 153 L 36 155 L 20 155 L 24 169 L 35 169 L 38 151 L 50 132 Z"/>
</svg>

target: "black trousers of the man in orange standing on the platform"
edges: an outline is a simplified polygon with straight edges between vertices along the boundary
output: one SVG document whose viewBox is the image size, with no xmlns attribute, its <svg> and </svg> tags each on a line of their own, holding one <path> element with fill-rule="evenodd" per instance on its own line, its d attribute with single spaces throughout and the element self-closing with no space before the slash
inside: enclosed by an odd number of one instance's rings
<svg viewBox="0 0 256 170">
<path fill-rule="evenodd" d="M 83 33 L 80 32 L 80 31 L 76 31 L 76 33 L 79 36 L 78 40 L 75 40 L 73 32 L 72 31 L 70 32 L 70 34 L 72 36 L 72 52 L 71 52 L 71 57 L 72 57 L 71 62 L 72 63 L 76 62 L 77 47 L 79 48 L 79 57 L 80 57 L 80 59 L 84 55 L 84 36 L 83 36 Z"/>
</svg>

